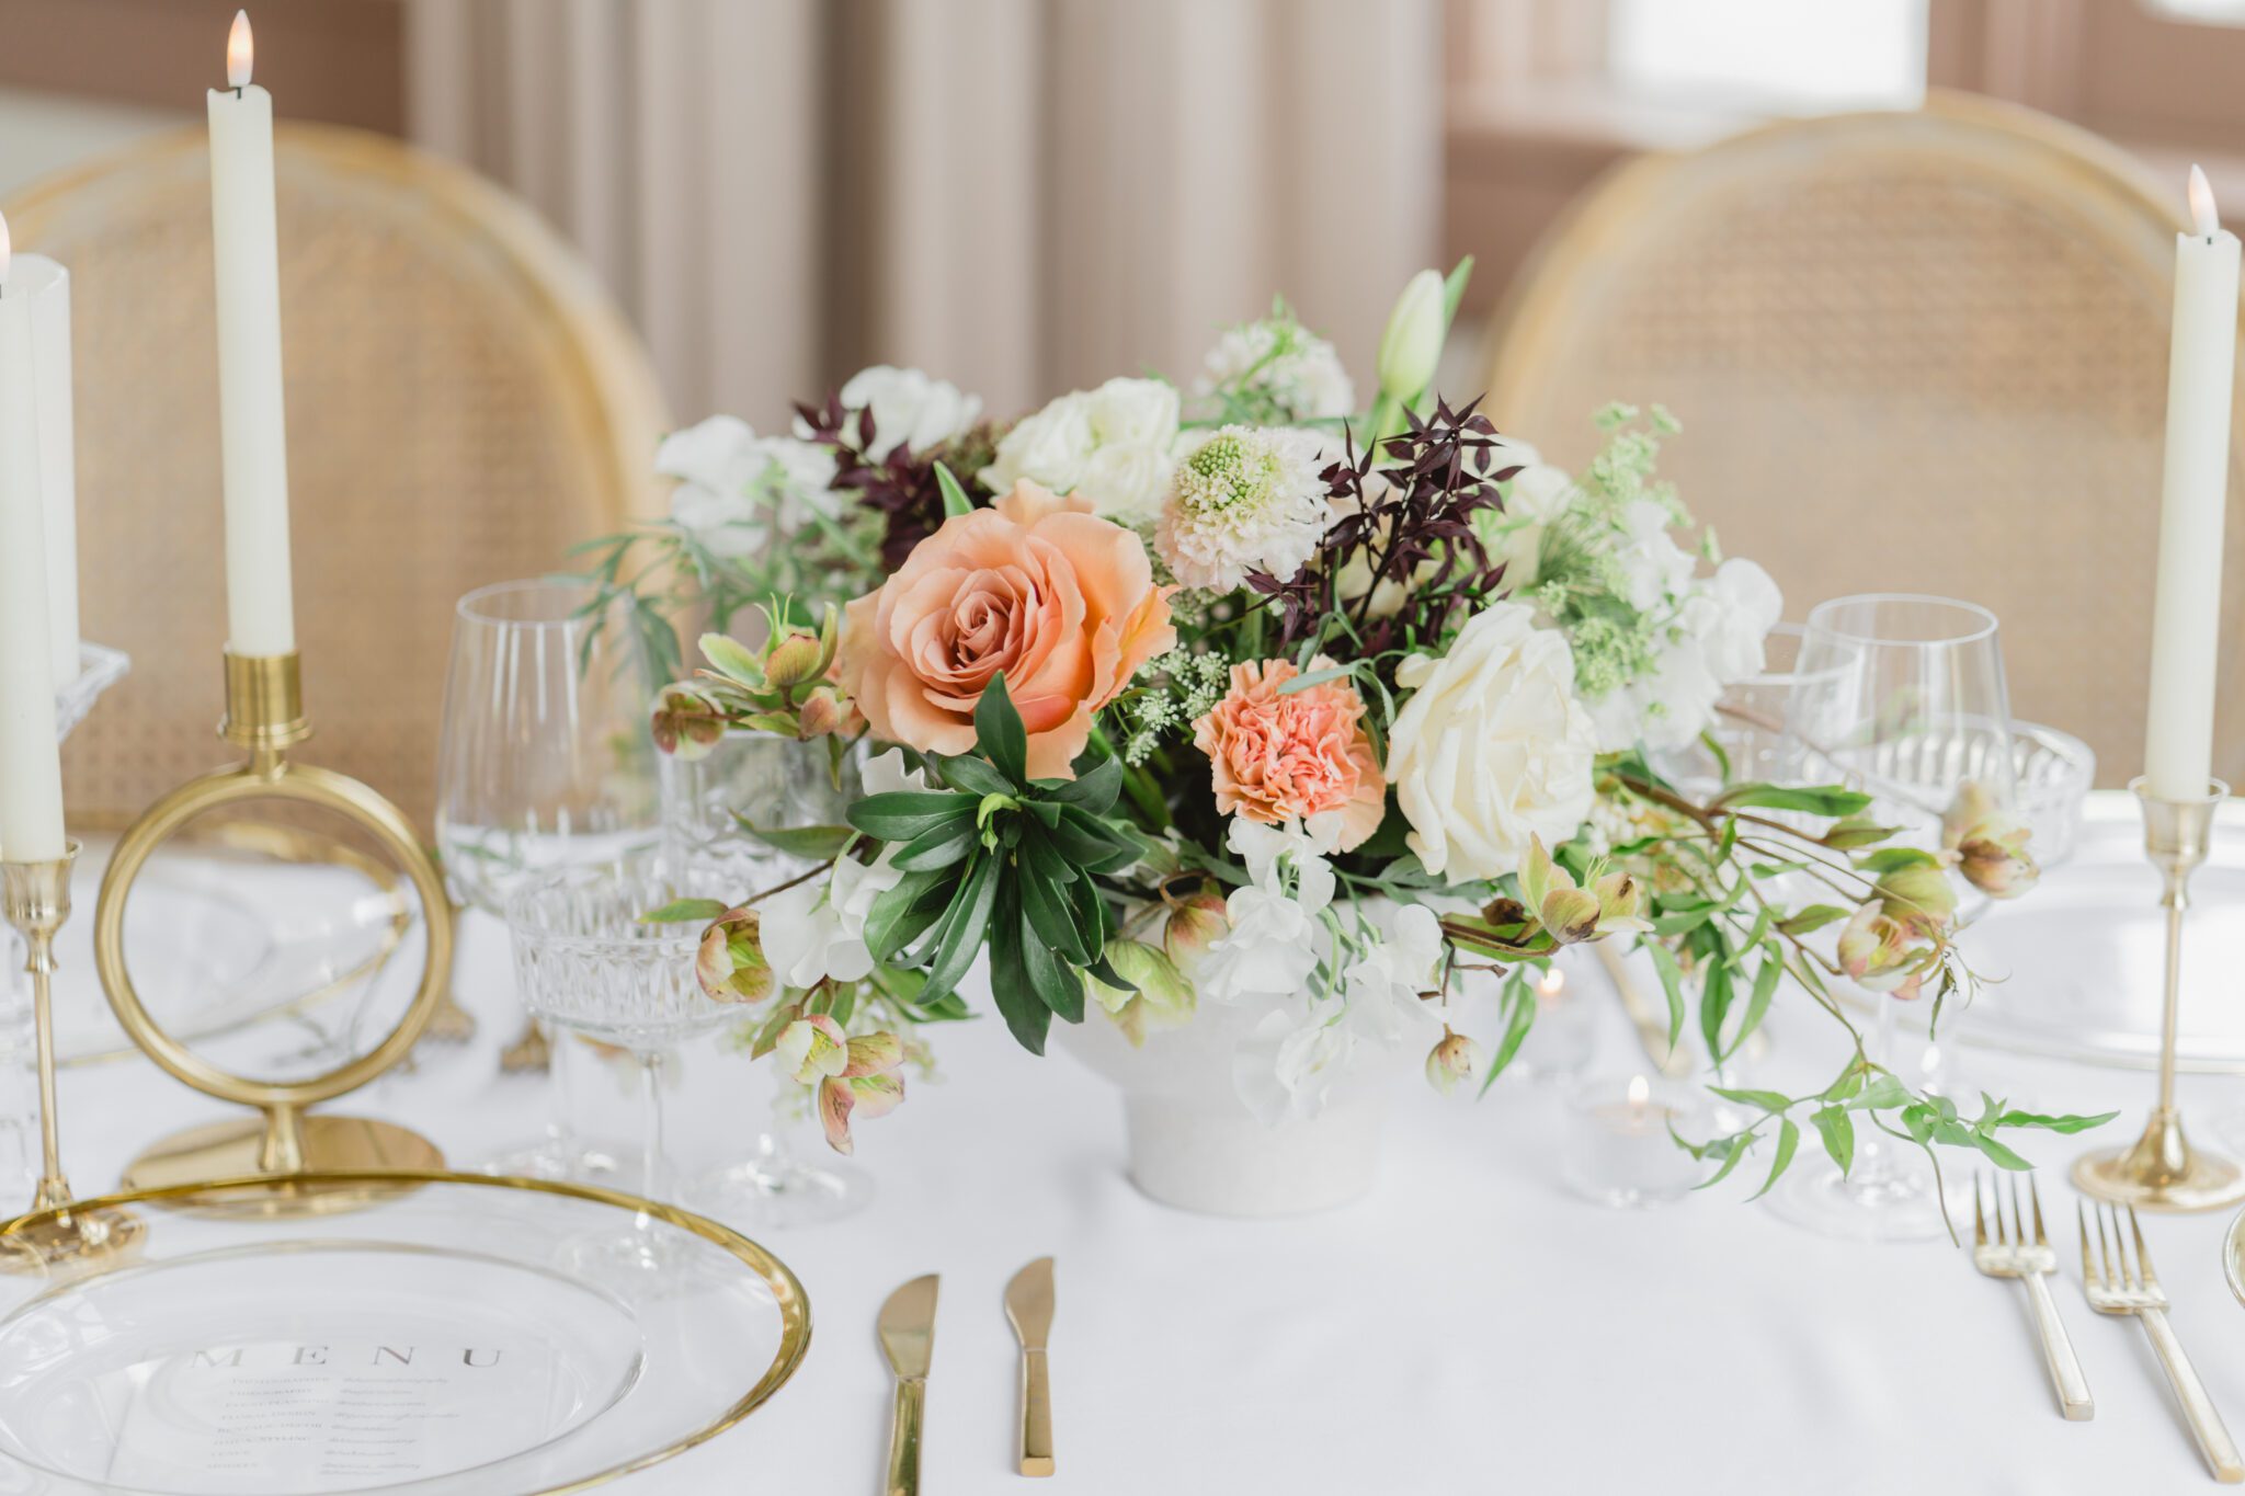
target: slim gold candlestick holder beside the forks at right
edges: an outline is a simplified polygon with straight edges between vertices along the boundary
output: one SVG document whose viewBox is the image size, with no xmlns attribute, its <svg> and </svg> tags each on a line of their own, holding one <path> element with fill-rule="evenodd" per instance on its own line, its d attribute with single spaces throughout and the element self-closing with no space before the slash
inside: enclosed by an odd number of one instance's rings
<svg viewBox="0 0 2245 1496">
<path fill-rule="evenodd" d="M 2160 1103 L 2144 1135 L 2126 1148 L 2099 1148 L 2074 1160 L 2074 1189 L 2097 1200 L 2144 1211 L 2218 1211 L 2245 1200 L 2245 1169 L 2236 1160 L 2193 1148 L 2182 1135 L 2175 1108 L 2175 1012 L 2182 1005 L 2182 915 L 2191 906 L 2191 872 L 2207 859 L 2214 812 L 2229 798 L 2229 785 L 2211 781 L 2196 801 L 2162 801 L 2146 781 L 2128 783 L 2144 805 L 2144 852 L 2164 884 L 2166 998 L 2160 1009 Z"/>
</svg>

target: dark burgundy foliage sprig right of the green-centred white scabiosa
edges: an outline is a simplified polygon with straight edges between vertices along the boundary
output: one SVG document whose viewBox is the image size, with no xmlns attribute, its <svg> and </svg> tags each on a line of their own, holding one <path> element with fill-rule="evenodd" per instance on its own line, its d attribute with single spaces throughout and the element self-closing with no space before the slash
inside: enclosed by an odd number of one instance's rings
<svg viewBox="0 0 2245 1496">
<path fill-rule="evenodd" d="M 1356 637 L 1347 630 L 1325 637 L 1322 648 L 1336 659 L 1378 657 L 1439 639 L 1457 608 L 1497 588 L 1504 563 L 1488 558 L 1473 534 L 1473 514 L 1504 507 L 1497 484 L 1520 464 L 1493 467 L 1502 446 L 1479 406 L 1475 399 L 1453 410 L 1435 401 L 1430 417 L 1412 413 L 1410 431 L 1383 444 L 1387 467 L 1376 475 L 1374 453 L 1358 453 L 1354 442 L 1343 462 L 1320 473 L 1340 518 L 1325 532 L 1318 558 L 1293 581 L 1264 572 L 1248 576 L 1248 585 L 1280 610 L 1282 648 L 1300 644 L 1327 612 L 1340 610 L 1334 581 L 1356 561 L 1372 581 L 1347 606 Z M 1428 563 L 1432 570 L 1412 581 Z M 1408 585 L 1410 597 L 1392 617 L 1376 619 L 1372 597 L 1383 581 Z"/>
</svg>

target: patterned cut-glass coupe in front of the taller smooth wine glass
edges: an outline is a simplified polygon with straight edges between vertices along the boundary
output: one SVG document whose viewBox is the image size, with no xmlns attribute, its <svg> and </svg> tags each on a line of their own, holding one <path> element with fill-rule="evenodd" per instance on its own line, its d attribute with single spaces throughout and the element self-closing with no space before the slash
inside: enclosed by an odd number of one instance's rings
<svg viewBox="0 0 2245 1496">
<path fill-rule="evenodd" d="M 739 1016 L 694 973 L 703 926 L 656 924 L 647 913 L 680 897 L 658 859 L 575 864 L 534 872 L 507 899 L 514 989 L 548 1025 L 624 1050 L 640 1074 L 640 1193 L 671 1198 L 662 1142 L 662 1072 L 676 1050 Z M 660 1267 L 642 1229 L 579 1245 L 604 1260 Z"/>
</svg>

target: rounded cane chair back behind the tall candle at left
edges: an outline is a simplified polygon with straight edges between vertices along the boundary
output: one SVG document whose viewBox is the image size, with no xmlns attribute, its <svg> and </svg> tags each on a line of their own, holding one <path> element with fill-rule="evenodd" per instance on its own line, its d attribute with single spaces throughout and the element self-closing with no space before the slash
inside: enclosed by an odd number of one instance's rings
<svg viewBox="0 0 2245 1496">
<path fill-rule="evenodd" d="M 644 354 L 528 213 L 352 132 L 283 128 L 281 318 L 312 763 L 427 823 L 453 601 L 559 570 L 644 502 Z M 72 269 L 85 637 L 132 655 L 65 758 L 123 821 L 229 758 L 202 135 L 45 184 L 16 242 Z"/>
</svg>

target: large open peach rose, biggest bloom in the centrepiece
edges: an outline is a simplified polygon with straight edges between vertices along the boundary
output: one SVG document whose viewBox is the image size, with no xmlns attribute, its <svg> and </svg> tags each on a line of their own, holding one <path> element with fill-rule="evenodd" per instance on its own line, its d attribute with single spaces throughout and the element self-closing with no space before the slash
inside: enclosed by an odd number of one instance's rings
<svg viewBox="0 0 2245 1496">
<path fill-rule="evenodd" d="M 1170 594 L 1136 532 L 1033 482 L 911 547 L 842 626 L 842 684 L 873 733 L 923 754 L 974 747 L 974 707 L 1006 675 L 1028 772 L 1069 774 L 1091 713 L 1176 644 Z"/>
</svg>

